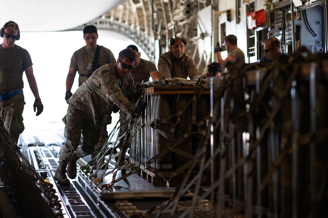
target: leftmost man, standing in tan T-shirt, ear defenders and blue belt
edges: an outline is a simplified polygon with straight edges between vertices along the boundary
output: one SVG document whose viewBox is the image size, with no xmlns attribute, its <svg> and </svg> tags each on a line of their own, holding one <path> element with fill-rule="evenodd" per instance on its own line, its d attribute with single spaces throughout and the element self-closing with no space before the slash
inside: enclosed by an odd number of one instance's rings
<svg viewBox="0 0 328 218">
<path fill-rule="evenodd" d="M 0 30 L 3 43 L 0 45 L 0 118 L 5 128 L 17 143 L 19 134 L 24 131 L 23 72 L 35 97 L 33 104 L 36 116 L 43 111 L 38 86 L 33 74 L 31 56 L 27 50 L 15 45 L 20 38 L 18 25 L 13 21 L 5 23 Z"/>
</svg>

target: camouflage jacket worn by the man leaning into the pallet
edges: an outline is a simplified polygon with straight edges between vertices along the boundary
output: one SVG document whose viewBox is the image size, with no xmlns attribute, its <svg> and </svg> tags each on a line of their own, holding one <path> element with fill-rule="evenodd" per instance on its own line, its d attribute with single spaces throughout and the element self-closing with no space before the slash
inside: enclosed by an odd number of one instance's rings
<svg viewBox="0 0 328 218">
<path fill-rule="evenodd" d="M 114 103 L 128 115 L 132 115 L 136 106 L 135 85 L 133 76 L 116 77 L 116 64 L 106 64 L 93 72 L 73 94 L 69 105 L 101 126 L 103 117 L 111 114 Z"/>
</svg>

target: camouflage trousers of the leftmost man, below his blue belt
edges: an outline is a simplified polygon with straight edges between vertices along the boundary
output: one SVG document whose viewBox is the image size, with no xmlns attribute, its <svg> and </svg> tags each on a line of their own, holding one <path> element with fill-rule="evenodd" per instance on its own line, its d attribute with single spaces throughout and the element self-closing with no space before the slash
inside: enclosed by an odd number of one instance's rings
<svg viewBox="0 0 328 218">
<path fill-rule="evenodd" d="M 17 143 L 19 134 L 24 131 L 23 110 L 24 94 L 18 94 L 7 100 L 0 100 L 0 117 L 5 128 Z"/>
</svg>

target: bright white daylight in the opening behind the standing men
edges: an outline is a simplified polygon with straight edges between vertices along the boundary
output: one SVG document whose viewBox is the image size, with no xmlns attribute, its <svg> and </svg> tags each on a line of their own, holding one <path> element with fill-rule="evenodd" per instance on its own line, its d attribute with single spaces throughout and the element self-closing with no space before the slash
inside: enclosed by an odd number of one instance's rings
<svg viewBox="0 0 328 218">
<path fill-rule="evenodd" d="M 102 32 L 103 35 L 100 35 L 100 32 L 98 31 L 97 44 L 111 49 L 116 59 L 118 53 L 128 45 L 136 45 L 124 36 L 118 37 L 116 33 L 113 33 L 113 36 L 124 41 L 106 37 L 111 34 L 108 31 Z M 23 112 L 25 125 L 23 136 L 30 134 L 35 136 L 36 132 L 47 130 L 64 131 L 62 118 L 66 115 L 68 106 L 65 101 L 66 77 L 74 51 L 85 46 L 82 31 L 21 32 L 21 38 L 15 44 L 25 48 L 31 55 L 34 76 L 44 105 L 42 114 L 36 117 L 33 111 L 35 98 L 24 72 L 23 91 L 26 104 Z M 141 58 L 149 60 L 140 47 L 138 48 L 141 52 Z M 76 73 L 72 93 L 77 87 L 78 74 Z M 113 116 L 113 125 L 117 121 L 116 115 L 118 113 Z"/>
</svg>

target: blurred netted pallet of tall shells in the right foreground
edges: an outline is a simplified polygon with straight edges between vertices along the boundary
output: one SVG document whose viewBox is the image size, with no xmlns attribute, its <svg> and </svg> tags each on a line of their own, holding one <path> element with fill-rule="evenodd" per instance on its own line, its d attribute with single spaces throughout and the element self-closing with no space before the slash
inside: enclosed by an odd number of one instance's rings
<svg viewBox="0 0 328 218">
<path fill-rule="evenodd" d="M 288 63 L 246 64 L 209 85 L 213 116 L 195 155 L 199 174 L 147 213 L 173 217 L 192 191 L 193 206 L 179 217 L 193 217 L 204 199 L 214 217 L 327 217 L 328 56 L 300 48 Z"/>
</svg>

